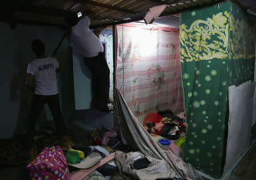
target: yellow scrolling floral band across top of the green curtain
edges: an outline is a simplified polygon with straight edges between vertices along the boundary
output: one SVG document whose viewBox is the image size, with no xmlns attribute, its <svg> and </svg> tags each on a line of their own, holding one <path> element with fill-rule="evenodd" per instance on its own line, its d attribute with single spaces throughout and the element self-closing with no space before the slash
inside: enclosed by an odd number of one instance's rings
<svg viewBox="0 0 256 180">
<path fill-rule="evenodd" d="M 230 33 L 236 36 L 230 38 Z M 249 35 L 246 37 L 254 38 L 243 38 L 245 33 Z M 189 28 L 180 25 L 181 62 L 252 58 L 255 55 L 254 39 L 255 28 L 251 28 L 246 20 L 235 20 L 227 11 L 219 12 L 212 19 L 195 20 Z"/>
</svg>

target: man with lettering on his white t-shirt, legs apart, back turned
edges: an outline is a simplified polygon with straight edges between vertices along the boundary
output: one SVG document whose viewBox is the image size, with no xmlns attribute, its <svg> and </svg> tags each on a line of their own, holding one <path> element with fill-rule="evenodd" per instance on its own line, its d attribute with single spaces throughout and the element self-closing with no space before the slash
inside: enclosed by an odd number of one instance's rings
<svg viewBox="0 0 256 180">
<path fill-rule="evenodd" d="M 60 100 L 57 88 L 56 71 L 59 70 L 59 62 L 56 58 L 44 55 L 45 45 L 39 39 L 32 41 L 32 51 L 36 54 L 36 59 L 27 67 L 27 86 L 34 90 L 31 102 L 30 115 L 27 119 L 27 143 L 30 146 L 35 135 L 35 125 L 44 104 L 48 104 L 51 110 L 56 134 L 65 133 L 63 115 L 60 110 Z M 35 87 L 33 80 L 35 79 Z"/>
</svg>

